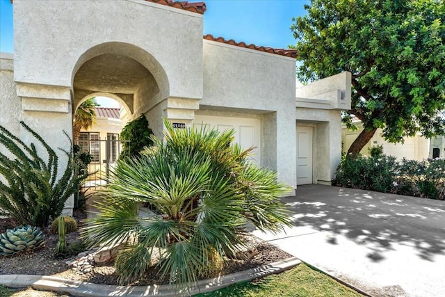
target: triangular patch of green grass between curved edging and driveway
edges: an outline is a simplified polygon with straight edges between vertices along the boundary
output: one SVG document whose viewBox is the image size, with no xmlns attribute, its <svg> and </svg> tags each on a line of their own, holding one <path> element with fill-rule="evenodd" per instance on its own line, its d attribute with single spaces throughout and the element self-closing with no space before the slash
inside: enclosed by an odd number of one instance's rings
<svg viewBox="0 0 445 297">
<path fill-rule="evenodd" d="M 316 297 L 316 296 L 363 296 L 328 275 L 315 271 L 305 264 L 300 264 L 289 271 L 277 275 L 269 275 L 254 282 L 232 284 L 196 297 Z"/>
</svg>

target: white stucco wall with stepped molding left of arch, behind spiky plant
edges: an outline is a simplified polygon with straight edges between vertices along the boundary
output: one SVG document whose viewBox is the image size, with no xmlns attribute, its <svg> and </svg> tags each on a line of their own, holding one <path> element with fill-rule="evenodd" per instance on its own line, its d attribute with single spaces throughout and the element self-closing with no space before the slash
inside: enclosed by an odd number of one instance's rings
<svg viewBox="0 0 445 297">
<path fill-rule="evenodd" d="M 46 150 L 19 124 L 20 120 L 42 136 L 58 155 L 58 177 L 61 177 L 66 168 L 67 156 L 58 150 L 58 147 L 69 150 L 70 140 L 65 136 L 64 131 L 72 135 L 71 107 L 66 98 L 69 90 L 59 87 L 35 86 L 30 89 L 23 85 L 17 86 L 13 72 L 15 63 L 12 55 L 0 54 L 0 125 L 6 127 L 15 136 L 19 136 L 24 143 L 35 143 L 40 156 L 46 160 Z M 21 92 L 24 97 L 18 97 L 18 92 Z M 0 150 L 4 152 L 4 149 L 0 148 Z M 74 198 L 70 197 L 64 211 L 72 214 L 73 206 Z"/>
</svg>

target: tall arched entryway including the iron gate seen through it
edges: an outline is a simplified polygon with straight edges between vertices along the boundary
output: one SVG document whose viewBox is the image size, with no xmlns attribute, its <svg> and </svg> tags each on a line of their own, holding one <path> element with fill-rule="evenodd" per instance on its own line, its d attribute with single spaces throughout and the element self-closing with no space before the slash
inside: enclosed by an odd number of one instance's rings
<svg viewBox="0 0 445 297">
<path fill-rule="evenodd" d="M 108 42 L 81 55 L 73 70 L 72 86 L 73 118 L 79 106 L 90 98 L 107 97 L 122 107 L 116 110 L 97 106 L 96 125 L 76 134 L 81 152 L 92 155 L 90 185 L 101 184 L 117 160 L 119 134 L 129 120 L 143 113 L 150 128 L 162 134 L 163 115 L 156 105 L 168 97 L 168 79 L 147 51 L 127 43 Z"/>
</svg>

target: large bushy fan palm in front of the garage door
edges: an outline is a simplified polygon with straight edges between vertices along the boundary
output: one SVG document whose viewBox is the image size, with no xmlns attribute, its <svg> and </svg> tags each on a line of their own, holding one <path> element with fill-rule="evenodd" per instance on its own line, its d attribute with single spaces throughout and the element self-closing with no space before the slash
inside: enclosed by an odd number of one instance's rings
<svg viewBox="0 0 445 297">
<path fill-rule="evenodd" d="M 189 286 L 216 257 L 234 256 L 248 220 L 274 232 L 290 223 L 279 200 L 289 188 L 247 161 L 252 149 L 231 145 L 234 131 L 165 127 L 163 141 L 118 164 L 83 229 L 91 246 L 126 243 L 115 264 L 122 284 L 156 265 L 161 277 Z M 138 202 L 153 214 L 139 217 Z"/>
</svg>

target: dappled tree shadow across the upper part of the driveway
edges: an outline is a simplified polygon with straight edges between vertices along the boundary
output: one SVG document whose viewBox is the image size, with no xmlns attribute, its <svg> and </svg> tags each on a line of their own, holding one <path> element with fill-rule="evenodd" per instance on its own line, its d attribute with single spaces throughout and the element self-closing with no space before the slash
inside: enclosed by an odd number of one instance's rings
<svg viewBox="0 0 445 297">
<path fill-rule="evenodd" d="M 335 186 L 298 186 L 284 198 L 296 227 L 329 231 L 369 248 L 373 262 L 385 259 L 394 243 L 415 248 L 421 259 L 433 261 L 445 253 L 445 201 L 426 200 Z M 369 244 L 371 243 L 371 244 Z"/>
</svg>

